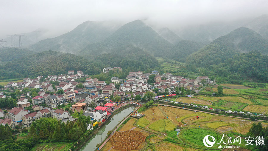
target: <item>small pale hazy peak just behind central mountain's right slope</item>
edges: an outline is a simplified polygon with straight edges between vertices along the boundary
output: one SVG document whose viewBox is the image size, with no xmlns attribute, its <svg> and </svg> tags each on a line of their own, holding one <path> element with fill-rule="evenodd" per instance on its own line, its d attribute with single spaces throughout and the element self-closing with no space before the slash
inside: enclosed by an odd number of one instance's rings
<svg viewBox="0 0 268 151">
<path fill-rule="evenodd" d="M 179 41 L 183 40 L 180 38 L 176 33 L 171 31 L 169 28 L 161 28 L 160 30 L 156 31 L 161 37 L 166 39 L 172 44 L 177 44 Z"/>
</svg>

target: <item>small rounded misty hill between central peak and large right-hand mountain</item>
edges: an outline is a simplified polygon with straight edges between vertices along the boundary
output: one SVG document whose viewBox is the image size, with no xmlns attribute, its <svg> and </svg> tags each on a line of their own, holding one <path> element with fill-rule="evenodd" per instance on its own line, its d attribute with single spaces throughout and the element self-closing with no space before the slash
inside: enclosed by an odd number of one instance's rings
<svg viewBox="0 0 268 151">
<path fill-rule="evenodd" d="M 202 45 L 189 40 L 179 41 L 167 54 L 167 57 L 174 58 L 177 61 L 185 62 L 186 57 L 197 52 L 202 48 Z"/>
</svg>

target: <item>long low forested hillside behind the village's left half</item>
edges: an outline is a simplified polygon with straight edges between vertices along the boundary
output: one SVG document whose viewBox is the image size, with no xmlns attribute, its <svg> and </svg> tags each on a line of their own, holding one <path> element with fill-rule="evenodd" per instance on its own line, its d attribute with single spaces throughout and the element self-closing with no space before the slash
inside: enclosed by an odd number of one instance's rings
<svg viewBox="0 0 268 151">
<path fill-rule="evenodd" d="M 1 65 L 0 79 L 59 75 L 74 69 L 82 70 L 86 74 L 97 74 L 101 71 L 92 61 L 81 56 L 49 50 Z"/>
</svg>

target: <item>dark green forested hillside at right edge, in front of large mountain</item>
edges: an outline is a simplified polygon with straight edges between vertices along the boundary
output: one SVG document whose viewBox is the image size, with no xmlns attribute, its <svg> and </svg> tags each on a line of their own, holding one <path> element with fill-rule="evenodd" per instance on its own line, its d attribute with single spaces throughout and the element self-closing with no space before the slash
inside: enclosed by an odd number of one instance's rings
<svg viewBox="0 0 268 151">
<path fill-rule="evenodd" d="M 212 66 L 218 76 L 229 77 L 230 81 L 252 78 L 268 82 L 268 56 L 258 51 L 237 54 L 217 66 Z"/>
</svg>

